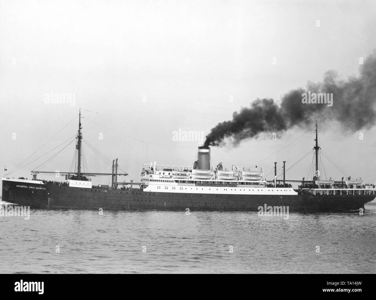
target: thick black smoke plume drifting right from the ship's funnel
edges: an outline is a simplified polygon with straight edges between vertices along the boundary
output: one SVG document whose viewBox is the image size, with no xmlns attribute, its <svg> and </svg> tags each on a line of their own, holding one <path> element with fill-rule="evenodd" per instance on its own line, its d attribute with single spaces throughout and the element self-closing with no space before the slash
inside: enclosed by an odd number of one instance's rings
<svg viewBox="0 0 376 300">
<path fill-rule="evenodd" d="M 303 104 L 302 94 L 333 93 L 333 105 Z M 348 132 L 371 128 L 376 121 L 376 51 L 360 66 L 360 75 L 347 81 L 328 71 L 321 83 L 308 82 L 306 90 L 298 88 L 282 97 L 280 105 L 273 99 L 257 99 L 249 108 L 235 111 L 232 120 L 218 123 L 206 136 L 204 146 L 222 146 L 229 137 L 234 146 L 244 139 L 257 138 L 263 132 L 283 132 L 313 120 L 335 120 Z"/>
</svg>

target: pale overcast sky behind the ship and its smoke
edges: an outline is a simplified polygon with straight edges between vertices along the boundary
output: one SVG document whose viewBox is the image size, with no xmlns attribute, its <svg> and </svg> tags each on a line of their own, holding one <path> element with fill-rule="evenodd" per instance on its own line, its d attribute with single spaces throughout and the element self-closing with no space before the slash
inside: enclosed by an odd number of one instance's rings
<svg viewBox="0 0 376 300">
<path fill-rule="evenodd" d="M 0 0 L 2 175 L 74 119 L 79 108 L 84 139 L 111 161 L 119 158 L 132 178 L 139 180 L 144 162 L 191 166 L 202 143 L 175 141 L 174 131 L 206 135 L 255 99 L 278 101 L 308 81 L 321 81 L 327 70 L 343 79 L 357 76 L 359 58 L 376 49 L 375 15 L 374 1 Z M 46 104 L 51 92 L 74 94 L 74 106 Z M 73 136 L 77 127 L 75 119 L 29 161 Z M 260 136 L 235 148 L 212 147 L 212 163 L 252 166 L 308 129 L 292 129 L 276 140 Z M 374 183 L 375 131 L 359 132 L 321 123 L 320 146 L 353 178 Z M 286 160 L 289 168 L 312 149 L 313 139 L 312 130 L 258 166 L 265 175 L 274 161 L 279 168 Z M 85 147 L 89 171 L 111 172 Z M 10 177 L 30 179 L 30 171 L 56 151 Z M 69 171 L 74 151 L 72 143 L 41 171 Z M 309 155 L 286 177 L 307 177 L 311 161 Z M 328 177 L 343 176 L 324 162 Z"/>
</svg>

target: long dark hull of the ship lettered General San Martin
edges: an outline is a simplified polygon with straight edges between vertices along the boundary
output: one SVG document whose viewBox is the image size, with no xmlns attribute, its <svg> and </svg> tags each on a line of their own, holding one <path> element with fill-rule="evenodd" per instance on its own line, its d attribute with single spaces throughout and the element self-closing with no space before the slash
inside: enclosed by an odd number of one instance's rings
<svg viewBox="0 0 376 300">
<path fill-rule="evenodd" d="M 25 187 L 17 187 L 23 185 Z M 42 187 L 43 189 L 37 189 Z M 3 180 L 2 200 L 30 208 L 109 210 L 223 210 L 257 212 L 259 206 L 288 206 L 289 212 L 347 212 L 364 209 L 375 195 L 212 195 L 105 190 Z"/>
</svg>

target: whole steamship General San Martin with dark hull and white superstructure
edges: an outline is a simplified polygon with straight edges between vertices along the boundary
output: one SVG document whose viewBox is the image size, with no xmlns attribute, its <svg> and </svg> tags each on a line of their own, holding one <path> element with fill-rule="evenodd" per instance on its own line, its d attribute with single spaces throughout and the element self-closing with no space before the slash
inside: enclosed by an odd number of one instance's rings
<svg viewBox="0 0 376 300">
<path fill-rule="evenodd" d="M 47 209 L 92 210 L 180 210 L 180 211 L 238 211 L 259 212 L 260 207 L 288 207 L 289 212 L 331 213 L 364 209 L 364 204 L 375 198 L 375 185 L 364 185 L 361 178 L 350 177 L 335 181 L 320 178 L 318 169 L 317 123 L 315 130 L 315 176 L 301 181 L 298 189 L 283 181 L 277 183 L 276 163 L 274 180 L 265 180 L 262 168 L 223 169 L 222 163 L 211 166 L 211 148 L 200 146 L 197 160 L 189 166 L 145 163 L 140 183 L 118 182 L 116 159 L 111 173 L 81 171 L 81 113 L 76 134 L 77 168 L 60 172 L 65 181 L 38 180 L 32 171 L 32 180 L 2 178 L 2 200 L 20 206 Z M 285 161 L 284 161 L 285 163 Z M 111 186 L 94 186 L 90 177 L 111 175 Z M 300 182 L 300 181 L 299 181 Z M 130 187 L 129 187 L 130 184 Z"/>
</svg>

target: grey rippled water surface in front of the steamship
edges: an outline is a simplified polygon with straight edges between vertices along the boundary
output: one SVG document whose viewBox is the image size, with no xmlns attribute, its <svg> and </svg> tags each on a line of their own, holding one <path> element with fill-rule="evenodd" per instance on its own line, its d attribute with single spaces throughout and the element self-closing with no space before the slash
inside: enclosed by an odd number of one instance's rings
<svg viewBox="0 0 376 300">
<path fill-rule="evenodd" d="M 0 217 L 0 273 L 375 273 L 376 206 L 365 208 L 287 220 L 32 209 L 28 220 Z"/>
</svg>

